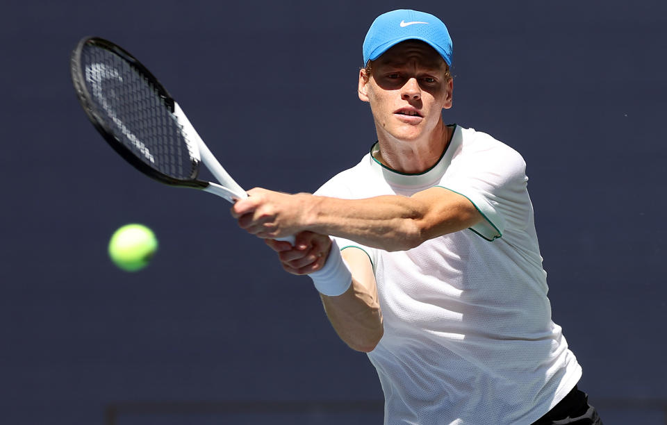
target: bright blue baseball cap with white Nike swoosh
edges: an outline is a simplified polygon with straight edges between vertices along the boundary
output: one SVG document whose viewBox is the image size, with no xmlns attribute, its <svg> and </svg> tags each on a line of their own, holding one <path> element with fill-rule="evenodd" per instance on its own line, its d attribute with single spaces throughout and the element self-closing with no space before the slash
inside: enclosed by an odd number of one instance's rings
<svg viewBox="0 0 667 425">
<path fill-rule="evenodd" d="M 421 40 L 452 66 L 452 38 L 440 19 L 430 13 L 400 9 L 375 18 L 363 40 L 363 65 L 405 40 Z"/>
</svg>

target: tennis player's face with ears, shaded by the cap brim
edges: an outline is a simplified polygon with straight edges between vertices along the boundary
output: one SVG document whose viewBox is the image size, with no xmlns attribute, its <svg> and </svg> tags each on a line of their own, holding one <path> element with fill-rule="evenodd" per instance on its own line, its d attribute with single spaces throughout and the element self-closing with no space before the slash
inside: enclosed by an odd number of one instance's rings
<svg viewBox="0 0 667 425">
<path fill-rule="evenodd" d="M 359 73 L 359 99 L 370 102 L 377 131 L 402 141 L 429 135 L 443 108 L 452 107 L 445 60 L 428 44 L 396 44 Z"/>
</svg>

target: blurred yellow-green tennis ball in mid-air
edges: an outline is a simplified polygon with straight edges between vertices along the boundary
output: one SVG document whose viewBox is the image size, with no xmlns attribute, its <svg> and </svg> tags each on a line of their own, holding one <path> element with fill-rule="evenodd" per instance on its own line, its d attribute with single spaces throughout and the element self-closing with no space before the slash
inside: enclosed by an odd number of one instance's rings
<svg viewBox="0 0 667 425">
<path fill-rule="evenodd" d="M 126 272 L 137 272 L 150 263 L 158 249 L 155 233 L 143 224 L 126 224 L 111 236 L 109 256 Z"/>
</svg>

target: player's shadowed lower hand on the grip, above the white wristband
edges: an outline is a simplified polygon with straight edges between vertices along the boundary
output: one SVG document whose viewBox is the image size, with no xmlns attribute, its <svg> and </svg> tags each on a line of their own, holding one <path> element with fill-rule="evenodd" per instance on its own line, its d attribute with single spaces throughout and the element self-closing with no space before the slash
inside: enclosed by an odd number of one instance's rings
<svg viewBox="0 0 667 425">
<path fill-rule="evenodd" d="M 291 274 L 309 274 L 324 267 L 331 238 L 309 231 L 295 235 L 294 247 L 290 242 L 267 239 L 266 244 L 278 253 L 278 258 L 286 272 Z"/>
</svg>

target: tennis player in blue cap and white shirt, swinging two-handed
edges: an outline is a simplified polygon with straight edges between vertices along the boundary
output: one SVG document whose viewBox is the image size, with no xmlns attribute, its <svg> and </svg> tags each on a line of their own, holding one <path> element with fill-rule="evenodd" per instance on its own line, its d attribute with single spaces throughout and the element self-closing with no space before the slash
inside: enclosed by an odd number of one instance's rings
<svg viewBox="0 0 667 425">
<path fill-rule="evenodd" d="M 315 194 L 256 188 L 232 215 L 308 274 L 368 353 L 386 424 L 602 424 L 551 319 L 519 153 L 443 122 L 452 40 L 414 10 L 375 19 L 359 98 L 377 142 Z M 296 234 L 295 247 L 274 240 Z"/>
</svg>

